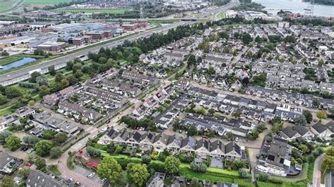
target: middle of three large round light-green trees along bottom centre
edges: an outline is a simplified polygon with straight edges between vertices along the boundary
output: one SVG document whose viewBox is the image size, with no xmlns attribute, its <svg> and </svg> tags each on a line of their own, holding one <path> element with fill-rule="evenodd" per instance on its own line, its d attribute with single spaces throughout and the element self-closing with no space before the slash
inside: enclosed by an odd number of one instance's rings
<svg viewBox="0 0 334 187">
<path fill-rule="evenodd" d="M 149 172 L 147 172 L 147 166 L 142 164 L 129 163 L 126 167 L 126 179 L 128 179 L 130 185 L 143 186 L 143 184 L 149 178 Z"/>
</svg>

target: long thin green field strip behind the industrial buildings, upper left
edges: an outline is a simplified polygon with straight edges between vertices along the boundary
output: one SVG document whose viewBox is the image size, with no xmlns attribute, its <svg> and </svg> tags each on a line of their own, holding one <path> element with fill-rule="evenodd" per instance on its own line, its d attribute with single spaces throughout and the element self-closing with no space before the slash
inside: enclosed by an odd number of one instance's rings
<svg viewBox="0 0 334 187">
<path fill-rule="evenodd" d="M 59 8 L 56 12 L 122 14 L 129 10 L 130 8 Z"/>
</svg>

